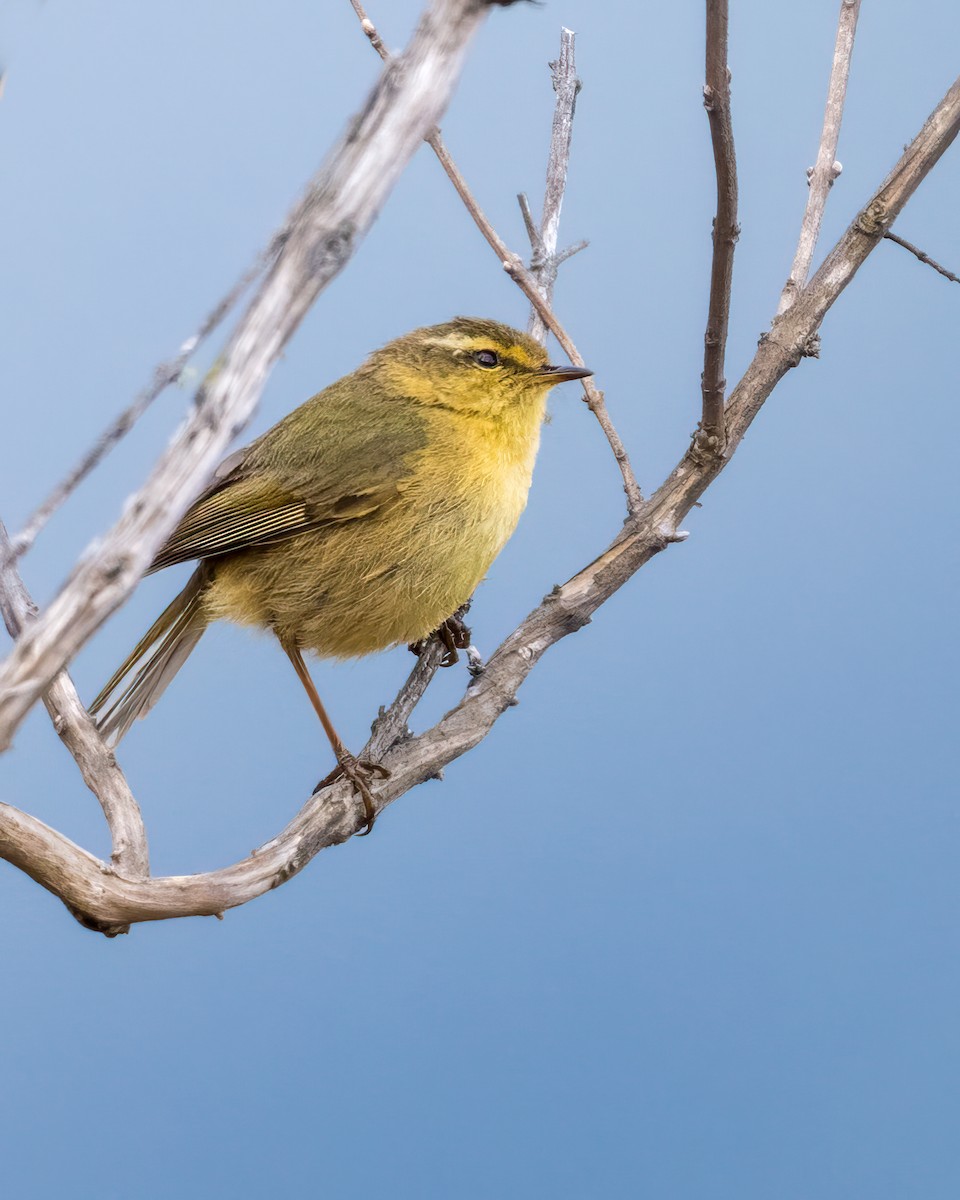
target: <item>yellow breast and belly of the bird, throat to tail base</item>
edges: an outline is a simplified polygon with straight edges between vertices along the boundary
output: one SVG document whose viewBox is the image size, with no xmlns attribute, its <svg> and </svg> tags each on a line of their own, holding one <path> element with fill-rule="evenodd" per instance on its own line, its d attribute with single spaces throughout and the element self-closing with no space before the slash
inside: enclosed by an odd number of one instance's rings
<svg viewBox="0 0 960 1200">
<path fill-rule="evenodd" d="M 425 449 L 383 511 L 217 565 L 211 616 L 353 658 L 426 637 L 474 593 L 527 503 L 545 397 L 486 415 L 425 409 Z M 292 571 L 290 556 L 298 563 Z"/>
</svg>

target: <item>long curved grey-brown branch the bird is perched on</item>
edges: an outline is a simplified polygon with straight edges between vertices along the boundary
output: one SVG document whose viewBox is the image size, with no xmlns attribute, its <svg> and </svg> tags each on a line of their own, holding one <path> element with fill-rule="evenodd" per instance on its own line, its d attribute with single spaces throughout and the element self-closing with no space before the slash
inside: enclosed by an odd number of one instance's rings
<svg viewBox="0 0 960 1200">
<path fill-rule="evenodd" d="M 767 397 L 804 358 L 811 338 L 866 257 L 882 240 L 910 197 L 960 132 L 958 79 L 893 172 L 870 198 L 824 259 L 796 302 L 775 317 L 726 408 L 722 455 L 691 446 L 658 492 L 646 502 L 613 544 L 557 588 L 503 642 L 463 700 L 432 728 L 406 736 L 407 706 L 415 701 L 432 664 L 418 664 L 402 692 L 400 709 L 378 722 L 374 745 L 391 778 L 378 784 L 385 808 L 476 745 L 509 708 L 546 650 L 580 629 L 644 563 L 685 536 L 679 522 L 731 460 Z M 434 648 L 433 653 L 439 653 Z M 113 932 L 138 920 L 155 920 L 226 908 L 277 887 L 318 851 L 364 828 L 361 802 L 349 785 L 336 784 L 307 800 L 293 822 L 250 858 L 205 875 L 134 882 L 34 817 L 0 806 L 0 856 L 61 896 L 92 928 Z"/>
</svg>

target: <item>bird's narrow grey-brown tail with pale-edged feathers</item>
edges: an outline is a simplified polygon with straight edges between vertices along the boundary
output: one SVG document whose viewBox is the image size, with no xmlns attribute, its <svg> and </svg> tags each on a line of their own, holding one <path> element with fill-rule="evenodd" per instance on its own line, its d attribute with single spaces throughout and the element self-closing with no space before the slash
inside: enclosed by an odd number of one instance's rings
<svg viewBox="0 0 960 1200">
<path fill-rule="evenodd" d="M 137 718 L 150 712 L 199 642 L 206 629 L 202 601 L 209 582 L 209 572 L 200 564 L 180 595 L 157 617 L 90 706 L 90 715 L 97 718 L 97 728 L 108 745 L 115 746 Z M 112 700 L 134 668 L 133 678 Z M 102 712 L 108 701 L 109 707 Z"/>
</svg>

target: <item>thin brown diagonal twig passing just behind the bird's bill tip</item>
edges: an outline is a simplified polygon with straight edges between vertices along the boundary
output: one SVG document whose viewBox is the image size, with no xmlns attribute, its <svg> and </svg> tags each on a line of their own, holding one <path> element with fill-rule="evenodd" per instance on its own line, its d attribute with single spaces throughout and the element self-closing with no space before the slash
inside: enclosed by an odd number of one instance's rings
<svg viewBox="0 0 960 1200">
<path fill-rule="evenodd" d="M 362 5 L 360 5 L 358 0 L 350 0 L 350 4 L 353 5 L 353 8 L 356 12 L 356 14 L 360 17 L 361 23 L 365 22 L 367 25 L 371 25 L 372 28 L 373 23 L 366 16 Z M 364 25 L 364 31 L 366 32 L 366 25 Z M 367 37 L 370 37 L 371 42 L 373 41 L 370 34 L 367 34 Z M 380 56 L 384 60 L 389 60 L 389 52 L 385 48 L 383 48 L 383 42 L 378 40 L 378 44 L 382 47 L 382 49 L 378 52 L 380 53 Z M 577 350 L 576 346 L 574 344 L 572 337 L 570 337 L 564 326 L 560 324 L 557 314 L 553 312 L 553 308 L 546 302 L 546 300 L 540 294 L 538 282 L 523 265 L 523 259 L 520 257 L 520 254 L 514 253 L 514 251 L 511 251 L 508 247 L 506 242 L 499 236 L 497 230 L 490 223 L 490 220 L 487 218 L 486 214 L 478 204 L 476 199 L 473 196 L 473 192 L 470 192 L 469 187 L 467 186 L 466 179 L 463 178 L 463 175 L 461 175 L 457 164 L 454 162 L 450 151 L 446 149 L 446 145 L 443 138 L 440 137 L 440 131 L 434 128 L 433 131 L 427 133 L 424 140 L 427 143 L 431 150 L 433 150 L 433 152 L 437 155 L 440 166 L 446 172 L 448 179 L 456 188 L 461 200 L 463 200 L 467 211 L 473 217 L 474 224 L 484 235 L 484 238 L 487 241 L 487 245 L 493 250 L 497 258 L 500 260 L 503 269 L 506 271 L 510 278 L 514 280 L 520 290 L 527 296 L 534 310 L 540 314 L 540 317 L 544 320 L 544 324 L 560 343 L 560 346 L 564 349 L 564 353 L 574 364 L 574 366 L 577 367 L 586 366 L 586 362 L 583 361 L 580 350 Z M 613 422 L 610 419 L 610 413 L 607 412 L 602 391 L 600 391 L 600 389 L 596 388 L 596 385 L 593 383 L 592 379 L 584 379 L 583 392 L 587 401 L 587 407 L 594 414 L 594 416 L 598 420 L 598 424 L 600 425 L 600 428 L 604 431 L 604 436 L 610 443 L 610 448 L 613 451 L 613 457 L 616 458 L 617 466 L 620 469 L 620 475 L 623 476 L 623 490 L 626 493 L 626 509 L 628 514 L 632 517 L 640 510 L 640 506 L 643 503 L 643 496 L 640 491 L 640 485 L 637 484 L 636 475 L 634 474 L 634 468 L 630 466 L 630 456 L 626 452 L 626 446 L 624 446 L 619 433 L 617 432 L 617 430 L 613 426 Z"/>
</svg>

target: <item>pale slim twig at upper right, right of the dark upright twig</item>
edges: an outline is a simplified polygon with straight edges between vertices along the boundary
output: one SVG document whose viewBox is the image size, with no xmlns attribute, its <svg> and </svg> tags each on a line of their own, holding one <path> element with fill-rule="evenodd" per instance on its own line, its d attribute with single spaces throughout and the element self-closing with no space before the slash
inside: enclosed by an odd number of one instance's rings
<svg viewBox="0 0 960 1200">
<path fill-rule="evenodd" d="M 820 226 L 823 210 L 827 206 L 827 194 L 833 187 L 842 167 L 836 161 L 836 148 L 840 142 L 840 122 L 844 119 L 844 103 L 850 78 L 850 61 L 853 56 L 853 38 L 857 35 L 857 18 L 860 14 L 860 0 L 840 0 L 840 17 L 836 23 L 836 44 L 833 52 L 830 82 L 827 88 L 827 107 L 823 112 L 823 128 L 820 134 L 816 166 L 808 170 L 809 191 L 806 209 L 800 224 L 800 238 L 790 278 L 784 284 L 778 313 L 786 312 L 803 290 L 814 250 L 820 238 Z"/>
</svg>

